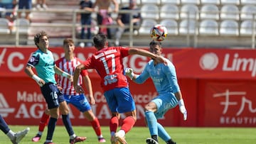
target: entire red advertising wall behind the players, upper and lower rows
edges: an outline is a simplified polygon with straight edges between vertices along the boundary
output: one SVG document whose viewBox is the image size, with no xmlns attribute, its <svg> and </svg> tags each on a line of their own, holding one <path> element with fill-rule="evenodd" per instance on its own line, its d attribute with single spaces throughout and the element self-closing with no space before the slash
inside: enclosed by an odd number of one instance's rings
<svg viewBox="0 0 256 144">
<path fill-rule="evenodd" d="M 46 103 L 33 79 L 23 72 L 31 52 L 36 48 L 0 48 L 0 114 L 14 125 L 37 125 Z M 63 56 L 62 48 L 51 48 L 55 59 Z M 92 55 L 94 48 L 77 48 L 81 60 Z M 176 65 L 178 82 L 188 110 L 183 121 L 178 106 L 166 113 L 164 126 L 256 126 L 256 51 L 228 49 L 166 48 L 164 56 Z M 140 73 L 149 59 L 132 55 L 124 67 Z M 95 115 L 107 126 L 110 111 L 95 70 L 88 70 L 96 105 Z M 144 105 L 156 96 L 151 80 L 144 84 L 129 82 L 137 104 L 136 126 L 144 126 Z M 82 114 L 70 106 L 74 125 L 90 125 Z M 62 124 L 61 121 L 58 124 Z"/>
</svg>

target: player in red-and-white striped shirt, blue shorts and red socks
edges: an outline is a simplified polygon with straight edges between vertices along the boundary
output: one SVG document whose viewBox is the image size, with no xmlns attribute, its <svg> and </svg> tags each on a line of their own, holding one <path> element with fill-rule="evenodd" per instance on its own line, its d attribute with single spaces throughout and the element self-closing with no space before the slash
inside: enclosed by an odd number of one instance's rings
<svg viewBox="0 0 256 144">
<path fill-rule="evenodd" d="M 78 57 L 75 57 L 74 55 L 75 45 L 73 40 L 68 38 L 65 39 L 63 41 L 63 49 L 65 52 L 65 56 L 55 61 L 55 64 L 64 72 L 67 72 L 68 74 L 73 75 L 73 72 L 75 71 L 75 67 L 77 65 L 80 65 L 81 63 L 81 60 L 78 59 Z M 85 84 L 85 87 L 89 92 L 88 98 L 90 100 L 90 103 L 89 101 L 87 101 L 85 94 L 79 94 L 75 92 L 75 89 L 73 87 L 73 82 L 71 82 L 69 79 L 59 75 L 56 78 L 57 78 L 59 87 L 62 89 L 65 101 L 67 101 L 68 104 L 73 104 L 73 106 L 75 106 L 79 111 L 84 113 L 85 118 L 87 118 L 87 120 L 90 121 L 90 123 L 92 124 L 92 128 L 94 129 L 99 142 L 105 143 L 106 140 L 102 136 L 100 122 L 97 119 L 97 117 L 95 117 L 94 113 L 92 112 L 92 108 L 90 106 L 90 104 L 95 104 L 95 99 L 92 94 L 92 84 L 90 81 L 90 77 L 88 76 L 88 72 L 86 70 L 82 70 L 80 72 L 80 75 L 78 78 L 78 85 L 82 86 L 82 83 Z M 82 104 L 81 104 L 81 101 L 83 101 Z M 41 135 L 43 134 L 43 129 L 47 125 L 49 118 L 50 116 L 48 115 L 48 110 L 46 110 L 46 112 L 43 113 L 43 116 L 41 118 L 41 121 L 39 124 L 39 131 L 37 135 L 34 138 L 32 138 L 32 141 L 36 142 L 40 140 Z"/>
</svg>

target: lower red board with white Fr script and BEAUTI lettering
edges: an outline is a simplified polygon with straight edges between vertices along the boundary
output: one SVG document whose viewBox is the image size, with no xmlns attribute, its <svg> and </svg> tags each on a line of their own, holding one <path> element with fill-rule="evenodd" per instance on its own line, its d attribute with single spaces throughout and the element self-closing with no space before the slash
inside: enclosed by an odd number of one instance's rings
<svg viewBox="0 0 256 144">
<path fill-rule="evenodd" d="M 256 123 L 256 82 L 202 80 L 202 126 L 243 126 Z"/>
</svg>

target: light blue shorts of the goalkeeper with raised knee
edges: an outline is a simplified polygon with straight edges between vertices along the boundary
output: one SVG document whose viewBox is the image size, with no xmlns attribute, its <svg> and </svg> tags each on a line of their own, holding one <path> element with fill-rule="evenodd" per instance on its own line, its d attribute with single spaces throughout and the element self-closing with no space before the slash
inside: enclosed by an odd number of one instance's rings
<svg viewBox="0 0 256 144">
<path fill-rule="evenodd" d="M 157 111 L 154 113 L 156 118 L 163 118 L 164 114 L 169 110 L 177 106 L 178 100 L 174 96 L 174 93 L 159 94 L 151 100 L 156 104 Z"/>
</svg>

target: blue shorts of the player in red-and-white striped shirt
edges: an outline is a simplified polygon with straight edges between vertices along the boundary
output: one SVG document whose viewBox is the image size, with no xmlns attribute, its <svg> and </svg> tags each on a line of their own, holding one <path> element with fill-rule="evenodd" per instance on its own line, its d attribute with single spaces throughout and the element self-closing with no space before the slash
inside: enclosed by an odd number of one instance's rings
<svg viewBox="0 0 256 144">
<path fill-rule="evenodd" d="M 91 108 L 89 101 L 87 101 L 85 94 L 80 95 L 66 95 L 64 94 L 64 99 L 68 104 L 72 104 L 82 113 L 85 111 L 89 111 Z"/>
</svg>

